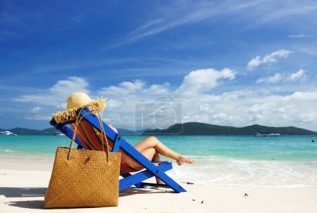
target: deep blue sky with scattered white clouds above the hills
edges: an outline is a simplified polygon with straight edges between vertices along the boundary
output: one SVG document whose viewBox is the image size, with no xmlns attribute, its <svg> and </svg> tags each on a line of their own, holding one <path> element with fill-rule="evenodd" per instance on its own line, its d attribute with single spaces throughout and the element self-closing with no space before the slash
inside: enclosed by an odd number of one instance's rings
<svg viewBox="0 0 317 213">
<path fill-rule="evenodd" d="M 317 131 L 317 1 L 0 0 L 0 128 L 49 128 L 75 91 L 124 129 Z"/>
</svg>

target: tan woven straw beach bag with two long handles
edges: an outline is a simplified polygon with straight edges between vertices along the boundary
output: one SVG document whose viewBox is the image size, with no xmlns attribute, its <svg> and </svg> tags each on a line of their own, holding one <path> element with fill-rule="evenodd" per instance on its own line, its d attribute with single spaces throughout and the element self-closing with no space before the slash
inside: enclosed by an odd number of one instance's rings
<svg viewBox="0 0 317 213">
<path fill-rule="evenodd" d="M 58 147 L 56 150 L 51 180 L 44 198 L 45 208 L 118 206 L 120 153 L 109 152 L 108 141 L 106 152 L 74 149 L 75 133 L 82 117 L 77 117 L 70 147 Z M 104 129 L 100 115 L 99 124 Z M 104 139 L 102 143 L 104 146 Z"/>
</svg>

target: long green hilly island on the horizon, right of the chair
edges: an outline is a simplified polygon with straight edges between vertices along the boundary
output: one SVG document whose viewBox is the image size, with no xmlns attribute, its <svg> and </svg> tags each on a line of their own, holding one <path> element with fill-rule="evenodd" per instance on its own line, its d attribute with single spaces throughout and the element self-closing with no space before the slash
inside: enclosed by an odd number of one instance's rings
<svg viewBox="0 0 317 213">
<path fill-rule="evenodd" d="M 251 125 L 248 127 L 228 127 L 199 122 L 174 124 L 167 129 L 153 129 L 144 131 L 143 134 L 177 134 L 177 135 L 254 135 L 256 132 L 265 131 L 287 135 L 315 135 L 317 132 L 300 129 L 297 127 L 266 127 Z"/>
</svg>

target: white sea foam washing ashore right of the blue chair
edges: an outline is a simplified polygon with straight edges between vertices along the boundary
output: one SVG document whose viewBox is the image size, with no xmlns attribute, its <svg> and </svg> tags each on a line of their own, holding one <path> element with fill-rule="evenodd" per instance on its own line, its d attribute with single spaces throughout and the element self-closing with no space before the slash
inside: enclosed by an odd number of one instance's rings
<svg viewBox="0 0 317 213">
<path fill-rule="evenodd" d="M 181 182 L 256 187 L 317 187 L 317 161 L 236 160 L 194 157 L 196 164 L 175 166 L 170 175 Z"/>
</svg>

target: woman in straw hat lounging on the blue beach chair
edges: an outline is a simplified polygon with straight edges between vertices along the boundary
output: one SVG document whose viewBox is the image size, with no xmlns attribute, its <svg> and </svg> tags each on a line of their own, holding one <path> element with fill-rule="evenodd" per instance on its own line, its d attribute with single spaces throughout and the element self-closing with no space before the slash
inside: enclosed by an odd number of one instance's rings
<svg viewBox="0 0 317 213">
<path fill-rule="evenodd" d="M 68 117 L 75 117 L 75 112 L 82 108 L 87 107 L 89 110 L 98 114 L 99 112 L 103 112 L 106 107 L 106 99 L 100 98 L 98 100 L 94 100 L 89 98 L 86 93 L 75 92 L 68 97 L 67 100 L 67 110 L 64 112 L 57 112 L 54 114 L 54 120 L 56 122 L 61 122 L 64 119 L 68 119 Z M 118 133 L 117 129 L 114 128 L 111 124 L 108 124 L 108 127 L 111 127 L 113 131 Z M 160 156 L 164 155 L 173 160 L 176 160 L 178 165 L 182 165 L 184 163 L 194 164 L 195 160 L 189 159 L 183 155 L 175 153 L 173 150 L 165 146 L 158 138 L 154 136 L 150 136 L 140 141 L 135 145 L 135 149 L 137 149 L 142 155 L 147 157 L 147 159 L 151 161 L 159 161 Z M 121 152 L 121 150 L 119 150 Z M 142 166 L 137 163 L 132 157 L 129 155 L 121 155 L 123 162 L 129 164 L 132 167 L 137 169 L 142 169 Z M 159 179 L 156 179 L 157 183 L 162 183 Z"/>
</svg>

